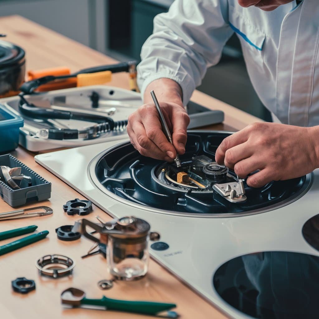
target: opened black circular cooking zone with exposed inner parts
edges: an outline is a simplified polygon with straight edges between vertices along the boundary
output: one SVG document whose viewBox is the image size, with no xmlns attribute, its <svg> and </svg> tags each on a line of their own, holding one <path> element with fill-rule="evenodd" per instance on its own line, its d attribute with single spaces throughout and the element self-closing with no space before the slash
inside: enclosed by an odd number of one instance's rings
<svg viewBox="0 0 319 319">
<path fill-rule="evenodd" d="M 106 152 L 95 167 L 100 189 L 136 204 L 181 213 L 236 214 L 282 205 L 300 196 L 309 176 L 271 182 L 258 189 L 243 182 L 246 200 L 232 203 L 212 186 L 237 181 L 236 174 L 219 167 L 215 152 L 229 132 L 188 132 L 182 168 L 140 155 L 127 142 Z"/>
</svg>

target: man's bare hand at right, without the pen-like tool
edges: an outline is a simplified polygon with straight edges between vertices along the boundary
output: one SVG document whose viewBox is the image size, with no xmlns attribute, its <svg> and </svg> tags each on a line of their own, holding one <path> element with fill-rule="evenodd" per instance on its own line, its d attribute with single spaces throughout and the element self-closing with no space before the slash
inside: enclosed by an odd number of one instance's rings
<svg viewBox="0 0 319 319">
<path fill-rule="evenodd" d="M 258 122 L 226 137 L 215 160 L 247 179 L 250 187 L 303 176 L 319 167 L 318 127 Z"/>
</svg>

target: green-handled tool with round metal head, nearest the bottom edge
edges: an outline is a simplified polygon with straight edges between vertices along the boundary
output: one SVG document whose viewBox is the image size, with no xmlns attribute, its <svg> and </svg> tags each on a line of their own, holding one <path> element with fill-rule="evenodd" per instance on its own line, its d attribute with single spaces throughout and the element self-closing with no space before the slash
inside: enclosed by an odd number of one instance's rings
<svg viewBox="0 0 319 319">
<path fill-rule="evenodd" d="M 91 305 L 105 307 L 108 310 L 135 312 L 144 315 L 155 315 L 167 318 L 178 317 L 176 312 L 168 311 L 176 307 L 174 303 L 116 300 L 105 296 L 103 296 L 102 299 L 87 299 L 85 298 L 85 292 L 77 288 L 68 288 L 64 290 L 61 293 L 61 301 L 62 304 L 71 305 L 73 307 Z"/>
</svg>

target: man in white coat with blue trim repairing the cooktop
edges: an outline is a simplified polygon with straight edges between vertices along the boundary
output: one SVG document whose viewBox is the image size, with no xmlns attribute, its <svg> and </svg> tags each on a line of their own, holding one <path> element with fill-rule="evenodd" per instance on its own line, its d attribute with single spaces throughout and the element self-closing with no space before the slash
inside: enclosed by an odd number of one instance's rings
<svg viewBox="0 0 319 319">
<path fill-rule="evenodd" d="M 247 179 L 252 187 L 311 172 L 319 167 L 318 0 L 175 0 L 155 17 L 142 48 L 138 83 L 145 104 L 130 115 L 131 143 L 166 161 L 185 152 L 183 105 L 234 32 L 260 100 L 280 122 L 255 123 L 227 137 L 215 160 L 241 178 L 259 170 Z M 161 131 L 151 90 L 174 146 Z"/>
</svg>

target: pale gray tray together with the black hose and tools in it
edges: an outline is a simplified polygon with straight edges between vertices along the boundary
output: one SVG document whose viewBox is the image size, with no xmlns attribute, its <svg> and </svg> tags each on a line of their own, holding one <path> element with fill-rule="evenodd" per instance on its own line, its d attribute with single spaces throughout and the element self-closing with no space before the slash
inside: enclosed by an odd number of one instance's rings
<svg viewBox="0 0 319 319">
<path fill-rule="evenodd" d="M 5 110 L 19 118 L 20 129 L 18 124 L 13 129 L 19 132 L 20 145 L 30 151 L 127 138 L 128 117 L 143 104 L 139 93 L 106 85 L 23 93 L 1 102 Z M 223 112 L 194 102 L 189 102 L 187 112 L 189 128 L 219 123 L 224 119 Z M 4 121 L 0 121 L 0 136 L 1 122 Z M 11 149 L 15 147 L 11 146 Z"/>
</svg>

